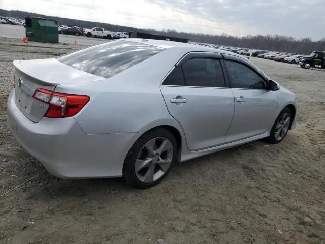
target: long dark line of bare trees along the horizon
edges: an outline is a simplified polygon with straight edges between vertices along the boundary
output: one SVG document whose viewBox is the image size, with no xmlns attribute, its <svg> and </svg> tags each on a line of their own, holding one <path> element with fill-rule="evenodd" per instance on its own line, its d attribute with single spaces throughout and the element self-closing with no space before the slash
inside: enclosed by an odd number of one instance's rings
<svg viewBox="0 0 325 244">
<path fill-rule="evenodd" d="M 114 25 L 108 23 L 91 22 L 85 20 L 68 19 L 61 17 L 54 17 L 30 12 L 24 12 L 19 10 L 4 10 L 0 9 L 0 16 L 16 17 L 24 19 L 26 16 L 38 16 L 41 18 L 54 19 L 57 24 L 79 26 L 83 28 L 102 27 L 114 32 L 144 32 L 179 38 L 186 38 L 193 42 L 203 42 L 211 44 L 220 44 L 234 47 L 246 47 L 262 50 L 282 51 L 290 53 L 302 53 L 309 54 L 313 50 L 325 51 L 325 37 L 319 41 L 313 41 L 311 38 L 295 38 L 281 35 L 255 35 L 237 37 L 226 33 L 221 35 L 211 35 L 203 33 L 186 33 L 177 32 L 175 30 L 161 30 L 146 29 L 146 28 L 134 28 L 128 26 Z"/>
</svg>

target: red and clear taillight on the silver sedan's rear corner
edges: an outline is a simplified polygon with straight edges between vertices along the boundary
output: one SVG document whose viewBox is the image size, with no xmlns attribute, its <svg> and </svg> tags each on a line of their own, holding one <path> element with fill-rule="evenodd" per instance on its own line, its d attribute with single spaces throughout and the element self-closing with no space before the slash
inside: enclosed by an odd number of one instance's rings
<svg viewBox="0 0 325 244">
<path fill-rule="evenodd" d="M 44 115 L 44 117 L 47 118 L 66 118 L 74 116 L 79 113 L 90 100 L 86 95 L 55 93 L 45 89 L 37 89 L 33 97 L 50 105 Z"/>
</svg>

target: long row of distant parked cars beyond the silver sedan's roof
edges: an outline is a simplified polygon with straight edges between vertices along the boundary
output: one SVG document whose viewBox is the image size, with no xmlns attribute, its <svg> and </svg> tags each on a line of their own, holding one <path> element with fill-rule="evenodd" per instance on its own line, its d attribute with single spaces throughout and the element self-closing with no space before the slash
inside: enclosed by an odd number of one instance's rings
<svg viewBox="0 0 325 244">
<path fill-rule="evenodd" d="M 222 50 L 234 52 L 234 53 L 241 54 L 241 55 L 266 58 L 266 59 L 271 59 L 271 60 L 278 61 L 278 62 L 286 62 L 286 63 L 291 63 L 291 64 L 298 64 L 299 60 L 303 56 L 306 56 L 304 54 L 298 54 L 298 53 L 275 52 L 275 51 L 257 50 L 257 49 L 251 49 L 251 48 L 238 48 L 238 47 L 229 47 L 229 46 L 207 44 L 207 43 L 193 43 L 193 44 L 222 49 Z"/>
</svg>

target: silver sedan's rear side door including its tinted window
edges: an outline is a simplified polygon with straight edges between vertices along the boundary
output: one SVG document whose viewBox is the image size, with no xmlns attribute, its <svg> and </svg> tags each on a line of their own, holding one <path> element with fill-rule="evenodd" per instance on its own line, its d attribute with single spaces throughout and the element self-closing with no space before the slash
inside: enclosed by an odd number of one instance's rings
<svg viewBox="0 0 325 244">
<path fill-rule="evenodd" d="M 234 95 L 225 83 L 220 54 L 190 53 L 160 86 L 169 113 L 182 126 L 191 151 L 225 143 Z"/>
</svg>

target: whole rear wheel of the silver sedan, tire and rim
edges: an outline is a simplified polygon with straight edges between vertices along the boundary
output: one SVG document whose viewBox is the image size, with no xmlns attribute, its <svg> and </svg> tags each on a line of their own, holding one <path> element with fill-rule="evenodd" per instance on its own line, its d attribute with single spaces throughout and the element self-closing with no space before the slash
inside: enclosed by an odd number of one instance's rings
<svg viewBox="0 0 325 244">
<path fill-rule="evenodd" d="M 177 142 L 173 134 L 164 128 L 150 130 L 128 151 L 123 177 L 132 186 L 152 187 L 166 177 L 176 157 Z"/>
</svg>

